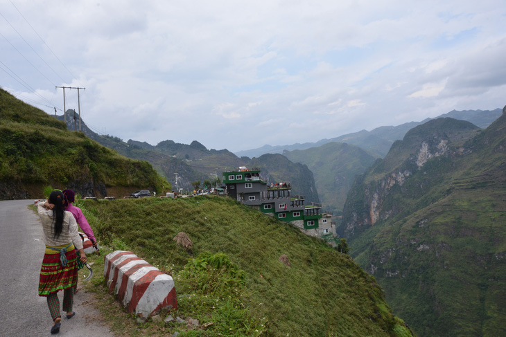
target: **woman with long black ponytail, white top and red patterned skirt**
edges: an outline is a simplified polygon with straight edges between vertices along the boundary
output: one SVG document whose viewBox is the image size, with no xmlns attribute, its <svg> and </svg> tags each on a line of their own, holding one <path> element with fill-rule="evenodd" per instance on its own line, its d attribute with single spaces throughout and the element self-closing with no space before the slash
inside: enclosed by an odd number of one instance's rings
<svg viewBox="0 0 506 337">
<path fill-rule="evenodd" d="M 80 262 L 87 258 L 78 234 L 76 219 L 71 212 L 64 210 L 64 195 L 53 190 L 47 201 L 37 203 L 37 212 L 42 222 L 42 232 L 46 251 L 40 268 L 39 296 L 46 297 L 53 326 L 51 334 L 60 332 L 60 300 L 58 291 L 63 290 L 63 311 L 72 318 L 73 287 L 78 280 L 78 262 L 76 249 L 80 253 Z"/>
</svg>

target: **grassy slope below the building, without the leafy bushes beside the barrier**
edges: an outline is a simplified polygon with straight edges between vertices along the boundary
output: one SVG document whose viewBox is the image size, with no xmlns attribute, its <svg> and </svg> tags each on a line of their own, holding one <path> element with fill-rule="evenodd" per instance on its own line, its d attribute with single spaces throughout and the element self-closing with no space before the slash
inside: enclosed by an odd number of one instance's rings
<svg viewBox="0 0 506 337">
<path fill-rule="evenodd" d="M 247 310 L 266 318 L 266 336 L 409 336 L 374 278 L 351 257 L 232 199 L 87 201 L 84 207 L 98 218 L 101 242 L 121 240 L 165 270 L 180 271 L 202 251 L 226 253 L 247 274 Z M 175 245 L 179 232 L 192 239 L 191 253 Z M 282 254 L 291 267 L 278 261 Z M 214 336 L 213 329 L 207 334 Z"/>
</svg>

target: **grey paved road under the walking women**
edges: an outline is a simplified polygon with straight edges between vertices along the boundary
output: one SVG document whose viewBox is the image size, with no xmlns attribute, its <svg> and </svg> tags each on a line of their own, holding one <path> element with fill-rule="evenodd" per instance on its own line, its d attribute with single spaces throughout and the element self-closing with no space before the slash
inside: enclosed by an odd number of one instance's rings
<svg viewBox="0 0 506 337">
<path fill-rule="evenodd" d="M 33 200 L 0 201 L 0 336 L 113 336 L 101 324 L 90 293 L 74 296 L 71 320 L 62 319 L 60 334 L 51 335 L 46 298 L 39 297 L 40 264 L 44 255 L 42 226 L 28 205 Z M 62 291 L 60 306 L 62 302 Z M 62 313 L 63 314 L 63 313 Z"/>
</svg>

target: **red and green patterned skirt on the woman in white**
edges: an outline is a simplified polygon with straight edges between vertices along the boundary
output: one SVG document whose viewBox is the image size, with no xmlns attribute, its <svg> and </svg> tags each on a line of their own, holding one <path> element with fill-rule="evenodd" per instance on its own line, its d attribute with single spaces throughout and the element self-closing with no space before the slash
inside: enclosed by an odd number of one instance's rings
<svg viewBox="0 0 506 337">
<path fill-rule="evenodd" d="M 47 296 L 50 293 L 76 286 L 78 281 L 78 257 L 73 244 L 67 248 L 67 253 L 65 253 L 67 266 L 62 266 L 60 261 L 60 249 L 67 246 L 68 244 L 51 246 L 51 248 L 58 249 L 58 251 L 46 246 L 46 252 L 40 267 L 39 296 Z"/>
</svg>

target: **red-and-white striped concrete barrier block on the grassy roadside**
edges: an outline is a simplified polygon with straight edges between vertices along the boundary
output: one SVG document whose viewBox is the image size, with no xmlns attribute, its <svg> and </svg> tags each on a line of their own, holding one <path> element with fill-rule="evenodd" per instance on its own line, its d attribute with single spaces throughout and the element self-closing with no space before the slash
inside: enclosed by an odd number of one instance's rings
<svg viewBox="0 0 506 337">
<path fill-rule="evenodd" d="M 160 309 L 177 310 L 174 280 L 132 252 L 114 251 L 104 257 L 104 277 L 129 312 L 150 316 Z"/>
</svg>

